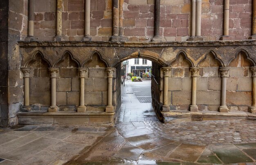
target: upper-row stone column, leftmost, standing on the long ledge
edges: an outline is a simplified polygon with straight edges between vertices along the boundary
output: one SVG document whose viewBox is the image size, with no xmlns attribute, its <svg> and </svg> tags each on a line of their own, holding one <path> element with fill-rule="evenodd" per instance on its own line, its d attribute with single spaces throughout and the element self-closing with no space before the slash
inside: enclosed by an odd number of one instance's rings
<svg viewBox="0 0 256 165">
<path fill-rule="evenodd" d="M 34 37 L 34 0 L 29 0 L 29 26 L 26 41 L 35 41 Z"/>
</svg>

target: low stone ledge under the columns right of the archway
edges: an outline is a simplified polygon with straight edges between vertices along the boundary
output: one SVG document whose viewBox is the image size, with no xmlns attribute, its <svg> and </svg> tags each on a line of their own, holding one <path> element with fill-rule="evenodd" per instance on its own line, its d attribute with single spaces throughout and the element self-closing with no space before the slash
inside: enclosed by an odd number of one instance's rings
<svg viewBox="0 0 256 165">
<path fill-rule="evenodd" d="M 228 112 L 220 113 L 217 111 L 169 111 L 161 112 L 164 123 L 178 123 L 186 121 L 202 120 L 250 120 L 256 119 L 256 114 L 249 112 Z"/>
</svg>

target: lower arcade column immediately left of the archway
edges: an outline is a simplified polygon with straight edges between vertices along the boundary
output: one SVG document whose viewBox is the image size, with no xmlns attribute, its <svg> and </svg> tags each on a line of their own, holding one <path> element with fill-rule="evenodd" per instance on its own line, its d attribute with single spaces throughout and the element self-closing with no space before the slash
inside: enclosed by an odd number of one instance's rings
<svg viewBox="0 0 256 165">
<path fill-rule="evenodd" d="M 112 105 L 112 81 L 115 68 L 106 68 L 108 72 L 108 105 L 106 106 L 106 112 L 114 112 L 114 106 Z"/>
</svg>

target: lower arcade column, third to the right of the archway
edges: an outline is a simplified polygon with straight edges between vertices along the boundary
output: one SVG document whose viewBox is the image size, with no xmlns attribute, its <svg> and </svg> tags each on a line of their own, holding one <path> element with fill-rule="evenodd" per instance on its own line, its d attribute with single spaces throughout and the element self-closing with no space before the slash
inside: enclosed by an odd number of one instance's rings
<svg viewBox="0 0 256 165">
<path fill-rule="evenodd" d="M 227 77 L 229 77 L 229 69 L 230 67 L 220 67 L 220 75 L 222 77 L 222 81 L 221 81 L 221 105 L 219 107 L 219 112 L 229 111 L 226 105 Z"/>
</svg>

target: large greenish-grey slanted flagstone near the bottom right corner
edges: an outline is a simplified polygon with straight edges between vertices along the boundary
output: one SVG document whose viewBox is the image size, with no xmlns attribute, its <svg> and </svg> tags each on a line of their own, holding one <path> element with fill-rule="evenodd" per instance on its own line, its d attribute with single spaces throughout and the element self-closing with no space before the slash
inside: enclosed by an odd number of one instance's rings
<svg viewBox="0 0 256 165">
<path fill-rule="evenodd" d="M 234 145 L 210 146 L 209 148 L 225 164 L 253 162 Z"/>
</svg>

